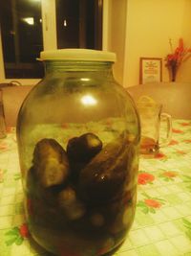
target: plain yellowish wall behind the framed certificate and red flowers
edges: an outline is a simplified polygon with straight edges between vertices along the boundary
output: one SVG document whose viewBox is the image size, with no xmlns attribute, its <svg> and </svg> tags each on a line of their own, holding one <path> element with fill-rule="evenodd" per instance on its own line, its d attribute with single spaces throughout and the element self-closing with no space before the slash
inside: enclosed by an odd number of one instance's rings
<svg viewBox="0 0 191 256">
<path fill-rule="evenodd" d="M 165 58 L 169 38 L 180 37 L 191 47 L 191 0 L 128 0 L 125 42 L 125 87 L 138 84 L 139 58 Z M 162 81 L 169 81 L 163 60 Z M 177 81 L 191 81 L 191 58 L 183 63 Z"/>
</svg>

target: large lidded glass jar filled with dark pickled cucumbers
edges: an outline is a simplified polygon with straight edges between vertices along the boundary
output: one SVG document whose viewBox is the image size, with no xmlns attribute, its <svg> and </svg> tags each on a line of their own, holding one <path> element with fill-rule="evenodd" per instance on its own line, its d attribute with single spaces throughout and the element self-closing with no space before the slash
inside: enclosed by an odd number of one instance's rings
<svg viewBox="0 0 191 256">
<path fill-rule="evenodd" d="M 102 255 L 134 220 L 138 114 L 114 80 L 114 53 L 62 49 L 41 59 L 46 76 L 17 123 L 32 238 L 56 255 Z"/>
</svg>

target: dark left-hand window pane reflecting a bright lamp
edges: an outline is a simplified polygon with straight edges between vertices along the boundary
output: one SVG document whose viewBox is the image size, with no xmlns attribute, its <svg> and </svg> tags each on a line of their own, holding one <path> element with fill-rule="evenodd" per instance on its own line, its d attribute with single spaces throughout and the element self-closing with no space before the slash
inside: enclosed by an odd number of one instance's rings
<svg viewBox="0 0 191 256">
<path fill-rule="evenodd" d="M 43 77 L 41 2 L 0 1 L 0 22 L 6 78 Z"/>
</svg>

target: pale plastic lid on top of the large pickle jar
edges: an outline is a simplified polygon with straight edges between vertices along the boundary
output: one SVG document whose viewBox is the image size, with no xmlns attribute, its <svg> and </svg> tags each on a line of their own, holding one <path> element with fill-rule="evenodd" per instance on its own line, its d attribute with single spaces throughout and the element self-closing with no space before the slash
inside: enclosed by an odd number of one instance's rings
<svg viewBox="0 0 191 256">
<path fill-rule="evenodd" d="M 41 60 L 52 59 L 74 59 L 74 60 L 95 60 L 95 61 L 116 61 L 116 54 L 107 51 L 90 49 L 58 49 L 43 51 L 40 53 Z"/>
</svg>

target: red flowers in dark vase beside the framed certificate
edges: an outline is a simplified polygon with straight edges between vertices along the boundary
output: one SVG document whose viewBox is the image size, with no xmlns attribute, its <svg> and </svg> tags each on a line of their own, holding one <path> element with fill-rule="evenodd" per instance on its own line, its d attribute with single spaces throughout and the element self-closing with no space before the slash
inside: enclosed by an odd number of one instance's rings
<svg viewBox="0 0 191 256">
<path fill-rule="evenodd" d="M 173 50 L 172 40 L 169 39 L 171 54 L 167 55 L 166 66 L 170 72 L 171 81 L 176 80 L 176 75 L 180 64 L 186 59 L 191 57 L 191 48 L 185 48 L 183 44 L 183 39 L 179 39 L 179 46 Z"/>
</svg>

